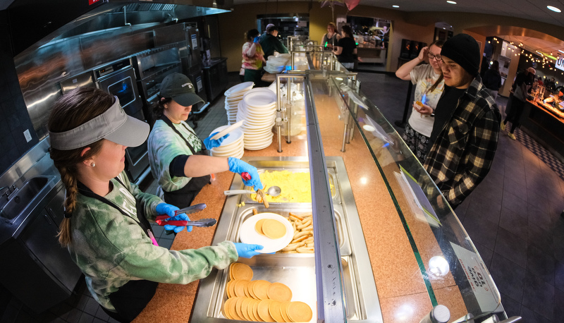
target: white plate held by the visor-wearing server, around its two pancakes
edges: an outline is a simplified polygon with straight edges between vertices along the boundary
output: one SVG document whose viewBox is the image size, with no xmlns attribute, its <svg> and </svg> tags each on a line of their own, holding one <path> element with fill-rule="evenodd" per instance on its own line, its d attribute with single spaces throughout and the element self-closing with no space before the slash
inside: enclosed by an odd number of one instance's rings
<svg viewBox="0 0 564 323">
<path fill-rule="evenodd" d="M 262 236 L 260 233 L 255 231 L 255 224 L 260 219 L 275 219 L 280 221 L 284 226 L 286 226 L 286 235 L 282 238 L 271 239 L 266 236 Z M 262 250 L 257 250 L 260 253 L 271 253 L 286 248 L 286 245 L 292 241 L 294 236 L 294 228 L 290 224 L 290 221 L 281 215 L 275 213 L 259 213 L 253 215 L 249 219 L 246 219 L 241 225 L 239 231 L 239 239 L 242 243 L 253 243 L 257 245 L 262 245 L 264 248 Z"/>
</svg>

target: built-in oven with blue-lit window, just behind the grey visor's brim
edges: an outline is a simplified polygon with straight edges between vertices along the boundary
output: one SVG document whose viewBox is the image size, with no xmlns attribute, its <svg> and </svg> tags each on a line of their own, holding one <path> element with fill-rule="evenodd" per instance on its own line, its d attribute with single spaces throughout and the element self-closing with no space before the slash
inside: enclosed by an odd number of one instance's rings
<svg viewBox="0 0 564 323">
<path fill-rule="evenodd" d="M 94 83 L 100 90 L 118 97 L 126 114 L 145 121 L 142 100 L 137 93 L 135 71 L 131 59 L 120 59 L 94 68 Z M 149 173 L 147 142 L 125 150 L 125 171 L 132 182 L 141 181 Z"/>
</svg>

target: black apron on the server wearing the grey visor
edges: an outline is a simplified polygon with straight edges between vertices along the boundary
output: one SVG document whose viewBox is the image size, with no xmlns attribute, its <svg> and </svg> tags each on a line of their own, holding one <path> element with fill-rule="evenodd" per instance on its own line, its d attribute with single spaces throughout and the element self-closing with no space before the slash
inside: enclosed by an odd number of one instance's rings
<svg viewBox="0 0 564 323">
<path fill-rule="evenodd" d="M 116 177 L 114 179 L 125 188 L 125 185 L 123 185 L 119 178 Z M 80 192 L 80 194 L 104 202 L 107 205 L 117 209 L 125 217 L 130 217 L 129 214 L 125 213 L 123 209 L 118 207 L 114 202 L 111 202 L 105 197 L 92 192 L 92 190 L 90 190 L 90 188 L 87 188 L 86 185 L 78 182 L 77 186 L 78 192 Z M 137 209 L 137 224 L 139 224 L 145 234 L 147 234 L 147 236 L 155 242 L 149 221 L 144 216 L 140 215 L 142 214 L 142 212 L 140 212 L 142 210 L 137 203 L 135 203 L 135 208 Z M 134 219 L 133 217 L 131 218 Z M 135 317 L 137 317 L 137 315 L 139 315 L 139 313 L 145 308 L 145 306 L 147 306 L 149 300 L 153 298 L 154 293 L 157 291 L 158 285 L 159 283 L 157 283 L 156 281 L 147 281 L 144 279 L 138 281 L 128 281 L 128 283 L 118 288 L 118 291 L 115 291 L 114 293 L 111 293 L 109 295 L 111 304 L 116 308 L 116 312 L 111 312 L 110 310 L 104 308 L 104 306 L 101 306 L 102 310 L 104 310 L 104 312 L 106 312 L 110 317 L 116 319 L 119 322 L 131 322 L 133 321 L 133 319 L 135 319 Z"/>
</svg>

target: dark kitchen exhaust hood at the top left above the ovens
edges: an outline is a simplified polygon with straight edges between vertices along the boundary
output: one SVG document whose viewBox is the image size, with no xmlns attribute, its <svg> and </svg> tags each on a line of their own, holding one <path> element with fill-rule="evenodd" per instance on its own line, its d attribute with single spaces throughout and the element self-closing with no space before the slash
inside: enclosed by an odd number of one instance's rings
<svg viewBox="0 0 564 323">
<path fill-rule="evenodd" d="M 0 0 L 8 11 L 13 54 L 56 39 L 128 26 L 147 27 L 231 11 L 233 0 Z"/>
</svg>

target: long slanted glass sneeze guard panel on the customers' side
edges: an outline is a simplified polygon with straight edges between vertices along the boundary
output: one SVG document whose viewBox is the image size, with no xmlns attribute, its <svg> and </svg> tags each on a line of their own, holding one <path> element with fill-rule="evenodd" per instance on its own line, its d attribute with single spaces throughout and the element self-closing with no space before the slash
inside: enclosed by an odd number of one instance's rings
<svg viewBox="0 0 564 323">
<path fill-rule="evenodd" d="M 464 305 L 474 317 L 503 312 L 498 289 L 453 209 L 379 109 L 354 85 L 345 82 L 332 75 L 329 87 L 338 92 L 341 110 L 350 112 L 384 179 L 431 304 L 445 304 L 447 299 L 441 296 L 445 288 L 458 286 L 463 303 L 457 306 Z M 448 262 L 450 271 L 444 276 L 434 274 L 437 268 L 430 268 L 434 262 L 431 258 L 435 256 Z M 454 297 L 454 293 L 449 294 Z M 453 313 L 453 308 L 450 310 Z"/>
</svg>

